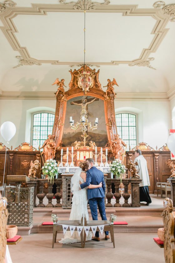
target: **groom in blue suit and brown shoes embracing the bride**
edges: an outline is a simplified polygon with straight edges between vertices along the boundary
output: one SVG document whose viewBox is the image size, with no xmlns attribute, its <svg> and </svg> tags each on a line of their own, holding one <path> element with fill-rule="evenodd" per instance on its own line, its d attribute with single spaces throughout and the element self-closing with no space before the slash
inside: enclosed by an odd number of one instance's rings
<svg viewBox="0 0 175 263">
<path fill-rule="evenodd" d="M 98 170 L 94 164 L 94 160 L 91 158 L 87 158 L 86 161 L 90 164 L 90 170 L 86 172 L 86 182 L 80 184 L 81 189 L 88 187 L 89 184 L 95 184 L 98 185 L 100 182 L 102 182 L 102 187 L 89 189 L 87 190 L 88 200 L 89 200 L 89 206 L 91 209 L 91 214 L 93 220 L 98 220 L 98 211 L 97 206 L 101 215 L 102 220 L 107 220 L 106 218 L 106 212 L 105 212 L 105 204 L 104 204 L 104 197 L 105 197 L 105 189 L 106 185 L 104 182 L 104 175 L 103 172 Z M 108 231 L 105 231 L 105 240 L 108 240 Z M 95 241 L 100 241 L 99 237 L 99 231 L 96 231 L 95 237 L 93 238 Z"/>
</svg>

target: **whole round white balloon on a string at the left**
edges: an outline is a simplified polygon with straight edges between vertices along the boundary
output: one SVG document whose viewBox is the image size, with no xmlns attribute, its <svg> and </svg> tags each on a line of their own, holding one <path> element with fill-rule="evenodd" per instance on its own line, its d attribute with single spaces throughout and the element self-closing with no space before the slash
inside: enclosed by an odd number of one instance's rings
<svg viewBox="0 0 175 263">
<path fill-rule="evenodd" d="M 2 123 L 0 132 L 6 142 L 9 142 L 16 133 L 16 126 L 11 121 Z"/>
</svg>

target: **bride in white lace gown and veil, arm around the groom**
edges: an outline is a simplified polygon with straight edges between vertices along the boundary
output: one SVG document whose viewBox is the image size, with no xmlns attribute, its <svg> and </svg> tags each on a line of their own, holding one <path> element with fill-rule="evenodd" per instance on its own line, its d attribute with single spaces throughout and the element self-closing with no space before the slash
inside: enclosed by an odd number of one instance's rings
<svg viewBox="0 0 175 263">
<path fill-rule="evenodd" d="M 90 169 L 90 164 L 87 161 L 81 162 L 79 164 L 78 170 L 75 172 L 71 179 L 71 192 L 73 193 L 72 198 L 72 209 L 70 213 L 69 220 L 81 220 L 82 214 L 86 215 L 86 219 L 89 219 L 88 215 L 88 199 L 87 199 L 87 190 L 86 188 L 80 189 L 79 185 L 81 183 L 86 182 L 86 171 Z M 90 184 L 88 188 L 99 188 L 102 187 L 102 183 L 98 185 Z M 87 240 L 92 239 L 91 232 L 88 233 L 86 238 Z M 78 243 L 81 242 L 81 238 L 78 236 L 78 232 L 74 231 L 73 235 L 71 236 L 70 231 L 67 231 L 59 243 L 62 244 L 71 244 L 71 243 Z"/>
</svg>

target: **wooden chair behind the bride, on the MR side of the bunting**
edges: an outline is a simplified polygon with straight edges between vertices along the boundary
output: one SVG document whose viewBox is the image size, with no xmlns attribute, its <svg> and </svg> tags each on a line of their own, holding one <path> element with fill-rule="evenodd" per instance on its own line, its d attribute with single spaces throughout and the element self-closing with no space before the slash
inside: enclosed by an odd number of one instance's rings
<svg viewBox="0 0 175 263">
<path fill-rule="evenodd" d="M 53 242 L 52 242 L 52 248 L 54 247 L 54 243 L 56 243 L 57 239 L 57 232 L 62 231 L 63 227 L 62 224 L 64 225 L 73 225 L 73 226 L 83 226 L 83 216 L 81 220 L 58 220 L 56 224 L 53 224 Z M 70 228 L 67 229 L 67 231 L 70 231 Z M 74 231 L 77 231 L 76 229 Z M 83 248 L 83 229 L 80 234 L 81 237 L 81 245 Z"/>
</svg>

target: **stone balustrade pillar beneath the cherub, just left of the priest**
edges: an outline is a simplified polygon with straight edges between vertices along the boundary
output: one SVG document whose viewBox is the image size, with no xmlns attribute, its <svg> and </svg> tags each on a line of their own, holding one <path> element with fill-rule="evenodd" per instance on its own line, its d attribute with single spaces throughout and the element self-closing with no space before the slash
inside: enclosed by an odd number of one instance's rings
<svg viewBox="0 0 175 263">
<path fill-rule="evenodd" d="M 131 206 L 140 207 L 140 189 L 139 183 L 142 182 L 141 179 L 131 178 Z"/>
</svg>

